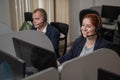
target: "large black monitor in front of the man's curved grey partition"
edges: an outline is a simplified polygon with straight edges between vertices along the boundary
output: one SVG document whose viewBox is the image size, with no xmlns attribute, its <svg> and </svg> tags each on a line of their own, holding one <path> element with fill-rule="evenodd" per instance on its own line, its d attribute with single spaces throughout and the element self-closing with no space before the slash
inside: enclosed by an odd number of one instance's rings
<svg viewBox="0 0 120 80">
<path fill-rule="evenodd" d="M 26 67 L 34 66 L 39 71 L 48 67 L 57 68 L 54 52 L 18 38 L 13 38 L 13 44 L 16 56 L 26 62 Z"/>
</svg>

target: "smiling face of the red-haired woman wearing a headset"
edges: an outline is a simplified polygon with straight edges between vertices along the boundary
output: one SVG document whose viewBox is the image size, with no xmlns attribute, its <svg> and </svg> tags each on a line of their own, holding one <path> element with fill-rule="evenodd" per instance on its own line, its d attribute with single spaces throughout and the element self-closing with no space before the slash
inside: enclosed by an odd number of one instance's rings
<svg viewBox="0 0 120 80">
<path fill-rule="evenodd" d="M 82 21 L 81 31 L 83 37 L 89 37 L 96 34 L 95 26 L 92 24 L 90 18 L 84 18 Z"/>
</svg>

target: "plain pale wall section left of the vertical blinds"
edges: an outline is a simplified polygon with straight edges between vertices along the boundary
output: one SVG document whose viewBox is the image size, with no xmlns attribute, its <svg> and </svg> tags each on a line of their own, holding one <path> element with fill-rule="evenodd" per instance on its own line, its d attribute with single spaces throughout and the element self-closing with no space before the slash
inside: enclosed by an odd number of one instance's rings
<svg viewBox="0 0 120 80">
<path fill-rule="evenodd" d="M 0 0 L 0 22 L 11 26 L 9 0 Z"/>
</svg>

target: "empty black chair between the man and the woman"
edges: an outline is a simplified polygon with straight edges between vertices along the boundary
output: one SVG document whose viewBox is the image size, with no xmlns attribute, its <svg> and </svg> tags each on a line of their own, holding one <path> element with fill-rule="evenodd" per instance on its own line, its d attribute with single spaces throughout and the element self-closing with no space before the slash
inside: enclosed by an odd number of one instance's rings
<svg viewBox="0 0 120 80">
<path fill-rule="evenodd" d="M 69 25 L 61 22 L 51 22 L 50 24 L 53 25 L 53 27 L 57 28 L 60 31 L 60 33 L 64 35 L 59 39 L 59 41 L 64 40 L 64 50 L 63 50 L 63 55 L 64 55 L 67 51 L 67 35 L 68 35 Z M 59 53 L 59 49 L 57 51 Z"/>
</svg>

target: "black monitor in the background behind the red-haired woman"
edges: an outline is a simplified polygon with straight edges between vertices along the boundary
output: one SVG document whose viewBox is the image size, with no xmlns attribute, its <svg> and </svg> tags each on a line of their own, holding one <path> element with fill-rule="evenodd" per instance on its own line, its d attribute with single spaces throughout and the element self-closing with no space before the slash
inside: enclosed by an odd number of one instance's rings
<svg viewBox="0 0 120 80">
<path fill-rule="evenodd" d="M 113 22 L 120 14 L 120 6 L 102 5 L 101 17 Z"/>
</svg>

